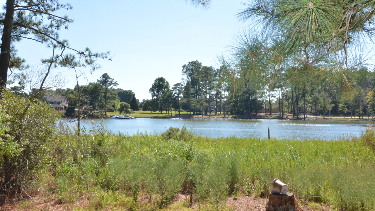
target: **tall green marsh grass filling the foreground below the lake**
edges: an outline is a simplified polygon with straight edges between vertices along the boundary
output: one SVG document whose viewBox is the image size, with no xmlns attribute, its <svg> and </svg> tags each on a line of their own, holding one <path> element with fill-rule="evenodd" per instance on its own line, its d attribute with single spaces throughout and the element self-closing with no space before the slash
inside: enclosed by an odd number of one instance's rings
<svg viewBox="0 0 375 211">
<path fill-rule="evenodd" d="M 51 175 L 61 202 L 91 193 L 96 208 L 126 204 L 133 210 L 156 210 L 182 191 L 218 211 L 227 196 L 260 196 L 279 178 L 300 203 L 375 210 L 374 129 L 359 139 L 338 141 L 211 139 L 184 128 L 133 136 L 104 127 L 85 128 L 81 137 L 71 128 L 60 132 Z M 149 205 L 138 203 L 140 194 Z"/>
</svg>

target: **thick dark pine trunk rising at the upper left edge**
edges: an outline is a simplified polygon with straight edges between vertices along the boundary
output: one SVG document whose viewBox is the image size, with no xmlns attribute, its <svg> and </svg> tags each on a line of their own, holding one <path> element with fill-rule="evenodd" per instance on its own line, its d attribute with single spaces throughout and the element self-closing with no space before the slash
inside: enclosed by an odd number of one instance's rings
<svg viewBox="0 0 375 211">
<path fill-rule="evenodd" d="M 10 60 L 10 44 L 12 39 L 12 26 L 14 18 L 14 0 L 6 1 L 6 12 L 3 21 L 3 36 L 1 37 L 1 53 L 0 53 L 0 87 L 6 87 L 6 79 L 8 76 L 8 67 Z M 0 94 L 2 92 L 0 89 Z"/>
</svg>

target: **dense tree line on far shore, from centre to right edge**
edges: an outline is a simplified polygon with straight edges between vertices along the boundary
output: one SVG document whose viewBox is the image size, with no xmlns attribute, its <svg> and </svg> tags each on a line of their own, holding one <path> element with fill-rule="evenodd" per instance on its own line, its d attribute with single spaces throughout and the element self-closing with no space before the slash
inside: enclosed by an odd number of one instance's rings
<svg viewBox="0 0 375 211">
<path fill-rule="evenodd" d="M 142 110 L 168 113 L 181 110 L 189 114 L 211 114 L 223 110 L 224 115 L 271 115 L 278 111 L 295 119 L 315 116 L 371 116 L 375 113 L 375 72 L 368 68 L 354 70 L 351 81 L 353 89 L 341 93 L 319 78 L 311 77 L 303 87 L 282 81 L 260 85 L 246 83 L 240 87 L 221 80 L 222 66 L 219 69 L 202 66 L 198 61 L 183 65 L 183 82 L 172 87 L 163 77 L 156 78 L 151 85 L 152 99 L 143 99 Z M 212 105 L 210 102 L 213 102 Z M 220 102 L 222 102 L 220 104 Z M 222 108 L 221 108 L 222 107 Z M 270 109 L 271 108 L 271 109 Z M 220 112 L 221 113 L 221 112 Z"/>
</svg>

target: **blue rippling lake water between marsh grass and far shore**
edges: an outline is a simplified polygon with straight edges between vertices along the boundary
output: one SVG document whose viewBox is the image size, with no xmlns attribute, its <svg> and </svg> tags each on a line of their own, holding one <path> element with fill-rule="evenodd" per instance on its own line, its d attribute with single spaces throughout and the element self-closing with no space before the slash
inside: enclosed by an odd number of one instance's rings
<svg viewBox="0 0 375 211">
<path fill-rule="evenodd" d="M 270 128 L 270 136 L 278 139 L 337 139 L 343 134 L 359 136 L 360 132 L 373 124 L 372 121 L 340 121 L 315 120 L 238 120 L 238 119 L 151 119 L 138 118 L 135 120 L 104 119 L 104 125 L 108 130 L 130 135 L 139 132 L 160 133 L 169 127 L 186 126 L 193 133 L 207 137 L 267 137 Z M 100 119 L 95 120 L 99 125 Z M 92 123 L 84 121 L 85 127 L 91 127 Z"/>
</svg>

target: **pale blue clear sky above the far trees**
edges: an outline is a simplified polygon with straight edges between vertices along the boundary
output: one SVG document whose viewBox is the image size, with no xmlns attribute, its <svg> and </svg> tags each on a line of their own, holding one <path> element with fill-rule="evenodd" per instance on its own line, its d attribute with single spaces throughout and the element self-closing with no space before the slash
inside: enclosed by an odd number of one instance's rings
<svg viewBox="0 0 375 211">
<path fill-rule="evenodd" d="M 165 77 L 171 86 L 180 82 L 181 66 L 187 62 L 216 66 L 216 55 L 249 24 L 235 16 L 246 0 L 213 0 L 206 11 L 179 0 L 67 2 L 73 10 L 62 12 L 75 21 L 60 32 L 61 38 L 75 49 L 90 47 L 115 55 L 112 61 L 99 60 L 103 68 L 87 74 L 89 82 L 108 73 L 118 88 L 133 90 L 139 100 L 151 98 L 148 89 L 157 77 Z M 16 46 L 30 65 L 51 55 L 51 49 L 34 41 Z M 67 87 L 73 87 L 72 72 L 62 74 L 69 80 Z"/>
</svg>

